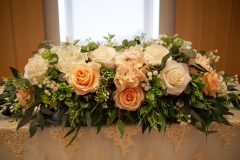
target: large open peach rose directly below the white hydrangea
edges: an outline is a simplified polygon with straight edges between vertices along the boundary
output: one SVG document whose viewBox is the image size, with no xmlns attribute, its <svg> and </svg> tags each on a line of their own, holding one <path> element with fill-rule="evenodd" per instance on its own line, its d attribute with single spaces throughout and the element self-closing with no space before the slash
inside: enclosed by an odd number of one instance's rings
<svg viewBox="0 0 240 160">
<path fill-rule="evenodd" d="M 100 67 L 93 63 L 80 63 L 72 66 L 66 78 L 77 95 L 94 92 L 99 84 Z"/>
</svg>

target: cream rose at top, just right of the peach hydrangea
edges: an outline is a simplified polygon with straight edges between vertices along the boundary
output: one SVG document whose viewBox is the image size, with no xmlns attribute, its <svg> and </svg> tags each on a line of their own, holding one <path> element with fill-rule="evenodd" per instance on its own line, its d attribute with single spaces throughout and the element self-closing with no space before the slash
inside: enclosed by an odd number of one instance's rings
<svg viewBox="0 0 240 160">
<path fill-rule="evenodd" d="M 152 44 L 146 48 L 144 58 L 151 65 L 159 65 L 169 51 L 162 45 Z"/>
</svg>

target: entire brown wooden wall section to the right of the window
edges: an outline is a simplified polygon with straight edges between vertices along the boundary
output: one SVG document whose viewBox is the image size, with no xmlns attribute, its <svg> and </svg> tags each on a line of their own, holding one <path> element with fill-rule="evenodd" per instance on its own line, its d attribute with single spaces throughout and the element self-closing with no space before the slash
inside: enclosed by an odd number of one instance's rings
<svg viewBox="0 0 240 160">
<path fill-rule="evenodd" d="M 197 50 L 218 49 L 217 70 L 239 75 L 239 10 L 239 0 L 176 0 L 175 33 Z"/>
</svg>

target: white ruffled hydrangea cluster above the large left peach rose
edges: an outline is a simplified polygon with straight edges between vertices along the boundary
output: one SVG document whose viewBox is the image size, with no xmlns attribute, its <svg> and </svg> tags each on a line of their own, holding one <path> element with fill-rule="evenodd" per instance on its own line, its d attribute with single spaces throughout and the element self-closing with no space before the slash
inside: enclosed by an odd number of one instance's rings
<svg viewBox="0 0 240 160">
<path fill-rule="evenodd" d="M 74 45 L 54 46 L 51 48 L 51 52 L 58 54 L 59 60 L 56 67 L 66 75 L 73 65 L 85 62 L 88 59 L 87 53 L 81 53 L 81 48 Z"/>
</svg>

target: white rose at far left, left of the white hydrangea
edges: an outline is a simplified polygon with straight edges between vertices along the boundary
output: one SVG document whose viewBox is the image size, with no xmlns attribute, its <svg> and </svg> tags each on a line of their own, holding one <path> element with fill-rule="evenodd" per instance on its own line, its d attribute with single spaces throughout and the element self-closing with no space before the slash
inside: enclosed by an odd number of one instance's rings
<svg viewBox="0 0 240 160">
<path fill-rule="evenodd" d="M 28 60 L 27 65 L 24 67 L 24 77 L 33 83 L 34 77 L 39 77 L 46 73 L 48 69 L 48 62 L 44 60 L 41 55 L 35 54 L 34 57 Z"/>
</svg>

